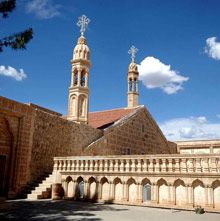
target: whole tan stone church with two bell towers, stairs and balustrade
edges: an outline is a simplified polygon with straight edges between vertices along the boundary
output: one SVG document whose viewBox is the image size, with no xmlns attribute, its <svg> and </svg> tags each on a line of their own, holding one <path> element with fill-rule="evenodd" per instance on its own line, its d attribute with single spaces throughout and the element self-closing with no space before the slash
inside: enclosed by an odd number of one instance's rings
<svg viewBox="0 0 220 221">
<path fill-rule="evenodd" d="M 0 197 L 35 200 L 52 194 L 220 212 L 220 140 L 166 139 L 139 105 L 134 51 L 125 82 L 127 107 L 89 112 L 90 49 L 84 32 L 81 23 L 67 116 L 0 97 Z"/>
</svg>

